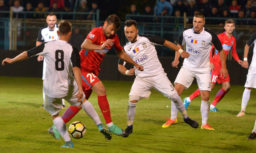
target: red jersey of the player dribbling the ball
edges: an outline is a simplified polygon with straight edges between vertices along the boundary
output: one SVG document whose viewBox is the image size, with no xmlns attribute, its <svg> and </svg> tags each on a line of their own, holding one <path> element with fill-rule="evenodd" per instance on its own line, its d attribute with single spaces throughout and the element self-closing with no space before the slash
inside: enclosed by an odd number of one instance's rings
<svg viewBox="0 0 256 153">
<path fill-rule="evenodd" d="M 87 35 L 86 39 L 90 39 L 93 42 L 93 44 L 102 45 L 107 40 L 102 28 L 103 27 L 93 28 L 93 30 Z M 114 49 L 117 51 L 123 50 L 123 47 L 120 45 L 119 38 L 116 34 L 111 36 L 109 39 L 113 40 L 111 47 L 106 47 L 103 50 L 82 49 L 80 51 L 81 69 L 88 72 L 93 72 L 95 75 L 98 76 L 100 65 L 107 52 L 112 47 L 114 47 Z"/>
</svg>

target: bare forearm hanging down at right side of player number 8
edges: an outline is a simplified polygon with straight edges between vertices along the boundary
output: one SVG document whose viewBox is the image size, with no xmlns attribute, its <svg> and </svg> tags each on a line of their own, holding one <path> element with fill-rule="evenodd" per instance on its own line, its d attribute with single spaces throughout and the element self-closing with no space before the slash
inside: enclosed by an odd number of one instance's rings
<svg viewBox="0 0 256 153">
<path fill-rule="evenodd" d="M 83 98 L 83 88 L 82 88 L 82 78 L 79 67 L 73 67 L 73 73 L 75 77 L 76 84 L 78 85 L 78 93 L 76 94 L 76 98 L 78 98 L 78 102 L 82 101 Z"/>
</svg>

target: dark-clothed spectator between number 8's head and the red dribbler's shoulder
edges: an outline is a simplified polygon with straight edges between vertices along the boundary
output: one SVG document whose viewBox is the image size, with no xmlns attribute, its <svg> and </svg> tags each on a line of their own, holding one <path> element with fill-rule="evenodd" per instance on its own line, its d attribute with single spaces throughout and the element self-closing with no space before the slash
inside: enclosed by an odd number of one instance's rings
<svg viewBox="0 0 256 153">
<path fill-rule="evenodd" d="M 80 33 L 80 29 L 78 27 L 75 28 L 74 32 L 72 32 L 71 37 L 69 39 L 69 43 L 74 45 L 78 48 L 78 50 L 81 50 L 81 45 L 84 41 L 85 37 L 83 34 Z"/>
</svg>

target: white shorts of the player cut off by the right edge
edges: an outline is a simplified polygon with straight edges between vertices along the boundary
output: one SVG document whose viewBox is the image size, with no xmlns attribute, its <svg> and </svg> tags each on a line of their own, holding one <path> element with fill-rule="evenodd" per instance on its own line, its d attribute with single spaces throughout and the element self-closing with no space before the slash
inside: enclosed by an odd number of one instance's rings
<svg viewBox="0 0 256 153">
<path fill-rule="evenodd" d="M 256 89 L 256 67 L 250 65 L 244 87 Z"/>
</svg>

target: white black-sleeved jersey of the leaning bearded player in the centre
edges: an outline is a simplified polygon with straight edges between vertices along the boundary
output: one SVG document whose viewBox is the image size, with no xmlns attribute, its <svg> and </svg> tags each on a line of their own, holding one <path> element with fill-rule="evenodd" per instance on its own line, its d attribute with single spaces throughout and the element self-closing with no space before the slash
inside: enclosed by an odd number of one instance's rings
<svg viewBox="0 0 256 153">
<path fill-rule="evenodd" d="M 164 73 L 162 64 L 159 62 L 155 45 L 163 45 L 165 40 L 153 35 L 138 35 L 136 42 L 127 42 L 124 45 L 124 51 L 134 62 L 144 67 L 144 71 L 135 68 L 135 75 L 139 77 L 154 76 Z M 119 59 L 118 64 L 125 65 L 125 62 Z"/>
</svg>

